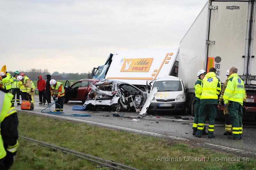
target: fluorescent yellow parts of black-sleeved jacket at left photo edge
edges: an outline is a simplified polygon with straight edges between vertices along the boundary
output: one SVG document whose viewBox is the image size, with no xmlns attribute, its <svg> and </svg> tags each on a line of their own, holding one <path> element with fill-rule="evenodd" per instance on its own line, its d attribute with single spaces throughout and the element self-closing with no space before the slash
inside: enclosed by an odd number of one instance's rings
<svg viewBox="0 0 256 170">
<path fill-rule="evenodd" d="M 12 107 L 12 100 L 13 95 L 11 93 L 4 93 L 3 91 L 0 91 L 0 124 L 4 121 L 4 119 L 8 116 L 10 116 L 13 113 L 16 113 L 15 107 Z M 0 127 L 1 132 L 1 127 Z M 12 132 L 10 132 L 12 133 Z M 16 152 L 17 148 L 19 146 L 18 141 L 15 145 L 7 146 L 7 151 L 9 152 Z M 4 149 L 4 141 L 3 137 L 0 133 L 0 159 L 4 158 L 6 156 L 6 150 Z"/>
</svg>

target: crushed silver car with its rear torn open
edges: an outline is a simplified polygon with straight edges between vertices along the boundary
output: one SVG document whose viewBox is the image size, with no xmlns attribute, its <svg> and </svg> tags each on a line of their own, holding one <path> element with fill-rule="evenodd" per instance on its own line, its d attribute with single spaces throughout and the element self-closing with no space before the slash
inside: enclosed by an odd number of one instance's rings
<svg viewBox="0 0 256 170">
<path fill-rule="evenodd" d="M 88 94 L 88 110 L 95 110 L 97 107 L 111 107 L 113 112 L 129 111 L 135 109 L 139 112 L 147 100 L 147 93 L 135 86 L 122 81 L 103 79 L 92 84 Z"/>
</svg>

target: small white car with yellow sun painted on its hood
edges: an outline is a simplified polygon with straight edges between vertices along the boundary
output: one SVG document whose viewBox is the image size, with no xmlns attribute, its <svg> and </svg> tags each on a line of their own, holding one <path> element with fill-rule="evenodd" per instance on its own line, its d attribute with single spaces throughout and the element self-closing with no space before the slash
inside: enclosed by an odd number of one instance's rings
<svg viewBox="0 0 256 170">
<path fill-rule="evenodd" d="M 187 112 L 186 92 L 180 78 L 164 76 L 152 81 L 152 89 L 158 88 L 150 101 L 147 113 L 155 111 Z M 151 92 L 151 91 L 150 91 Z"/>
</svg>

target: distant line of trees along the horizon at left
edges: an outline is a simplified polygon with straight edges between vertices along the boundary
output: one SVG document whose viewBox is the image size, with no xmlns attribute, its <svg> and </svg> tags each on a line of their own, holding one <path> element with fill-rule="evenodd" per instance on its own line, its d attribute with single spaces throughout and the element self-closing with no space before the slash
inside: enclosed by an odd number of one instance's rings
<svg viewBox="0 0 256 170">
<path fill-rule="evenodd" d="M 36 68 L 31 68 L 29 70 L 19 70 L 20 73 L 25 73 L 30 80 L 38 80 L 38 76 L 42 75 L 44 78 L 44 75 L 50 74 L 50 75 L 61 75 L 63 78 L 68 78 L 68 80 L 80 80 L 80 79 L 91 79 L 91 73 L 92 71 L 88 73 L 59 73 L 59 72 L 53 72 L 52 74 L 48 71 L 48 69 L 36 69 Z M 13 76 L 14 71 L 9 71 L 9 73 Z"/>
</svg>

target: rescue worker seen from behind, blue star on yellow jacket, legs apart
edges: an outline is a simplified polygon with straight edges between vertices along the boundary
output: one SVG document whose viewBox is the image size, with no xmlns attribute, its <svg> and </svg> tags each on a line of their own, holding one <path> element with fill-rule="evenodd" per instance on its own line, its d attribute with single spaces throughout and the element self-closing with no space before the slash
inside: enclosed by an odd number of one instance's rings
<svg viewBox="0 0 256 170">
<path fill-rule="evenodd" d="M 216 69 L 209 69 L 202 81 L 203 89 L 200 101 L 199 118 L 196 137 L 201 137 L 206 119 L 206 113 L 209 112 L 208 138 L 215 138 L 214 123 L 217 116 L 218 95 L 220 94 L 220 79 L 216 77 Z"/>
</svg>

